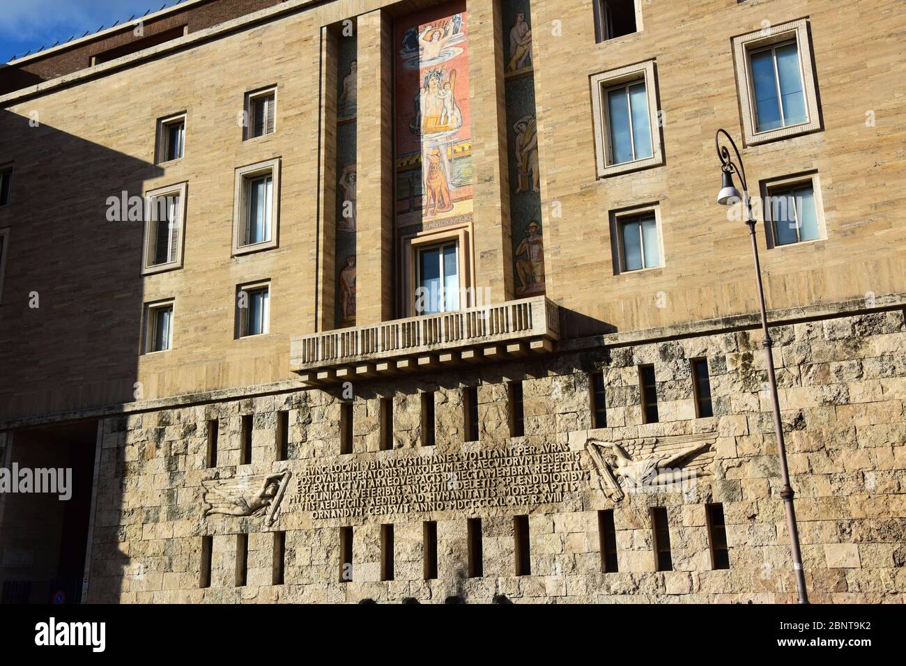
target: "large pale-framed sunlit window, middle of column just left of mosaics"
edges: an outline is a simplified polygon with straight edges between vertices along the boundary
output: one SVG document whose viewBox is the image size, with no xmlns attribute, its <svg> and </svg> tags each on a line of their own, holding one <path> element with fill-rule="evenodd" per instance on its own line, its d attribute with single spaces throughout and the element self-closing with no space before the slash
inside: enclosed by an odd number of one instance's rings
<svg viewBox="0 0 906 666">
<path fill-rule="evenodd" d="M 280 159 L 236 169 L 233 217 L 233 254 L 277 245 L 277 209 L 280 201 Z"/>
</svg>

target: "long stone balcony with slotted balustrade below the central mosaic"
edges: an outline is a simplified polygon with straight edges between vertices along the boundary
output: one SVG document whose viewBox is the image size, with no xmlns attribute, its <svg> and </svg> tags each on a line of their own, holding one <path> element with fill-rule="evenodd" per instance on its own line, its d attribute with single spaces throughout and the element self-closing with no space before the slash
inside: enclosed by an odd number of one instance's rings
<svg viewBox="0 0 906 666">
<path fill-rule="evenodd" d="M 324 384 L 554 350 L 559 307 L 545 296 L 298 335 L 290 368 Z"/>
</svg>

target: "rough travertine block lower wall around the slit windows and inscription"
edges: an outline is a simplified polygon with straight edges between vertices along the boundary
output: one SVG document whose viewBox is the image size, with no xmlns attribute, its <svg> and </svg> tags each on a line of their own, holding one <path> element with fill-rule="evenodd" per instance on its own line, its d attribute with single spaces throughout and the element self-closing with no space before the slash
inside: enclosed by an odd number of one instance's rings
<svg viewBox="0 0 906 666">
<path fill-rule="evenodd" d="M 777 327 L 776 359 L 806 577 L 814 602 L 902 601 L 906 592 L 906 323 L 901 310 Z M 400 377 L 353 387 L 353 453 L 339 456 L 334 390 L 224 401 L 106 420 L 92 548 L 92 601 L 469 603 L 794 602 L 778 497 L 760 333 L 726 332 L 575 352 L 549 361 Z M 690 358 L 707 356 L 715 416 L 694 419 Z M 637 365 L 653 363 L 660 422 L 642 425 Z M 602 369 L 608 428 L 589 430 L 587 372 Z M 506 381 L 523 380 L 525 437 L 509 438 Z M 480 441 L 463 443 L 461 387 L 478 386 Z M 437 391 L 437 446 L 419 447 L 419 391 Z M 394 449 L 379 451 L 379 400 L 393 396 Z M 290 410 L 288 460 L 275 461 L 276 412 Z M 241 415 L 254 414 L 253 463 L 237 466 Z M 220 420 L 218 467 L 205 468 L 207 420 Z M 583 443 L 716 433 L 709 476 L 687 492 L 604 497 Z M 294 505 L 316 466 L 391 466 L 410 458 L 494 452 L 579 461 L 562 501 L 313 518 Z M 282 513 L 204 517 L 202 481 L 294 472 Z M 537 471 L 542 471 L 535 466 Z M 493 471 L 493 469 L 491 470 Z M 375 482 L 377 483 L 377 482 Z M 515 487 L 508 480 L 492 488 Z M 510 484 L 507 486 L 506 484 Z M 379 484 L 380 485 L 380 484 Z M 368 486 L 371 487 L 371 486 Z M 301 497 L 305 500 L 306 497 Z M 721 502 L 730 568 L 712 571 L 706 502 Z M 356 502 L 353 501 L 352 505 Z M 480 504 L 480 503 L 479 503 Z M 352 506 L 350 505 L 350 506 Z M 668 508 L 674 571 L 657 573 L 649 507 Z M 597 510 L 614 508 L 619 573 L 601 573 Z M 529 515 L 531 569 L 515 575 L 512 516 Z M 467 578 L 467 517 L 484 532 L 484 575 Z M 423 520 L 438 521 L 439 578 L 422 579 Z M 380 580 L 380 525 L 395 529 L 395 580 Z M 339 526 L 354 527 L 353 581 L 339 582 Z M 285 583 L 271 584 L 273 530 L 286 531 Z M 236 533 L 249 534 L 248 580 L 234 586 Z M 211 587 L 199 589 L 201 536 L 214 536 Z"/>
</svg>

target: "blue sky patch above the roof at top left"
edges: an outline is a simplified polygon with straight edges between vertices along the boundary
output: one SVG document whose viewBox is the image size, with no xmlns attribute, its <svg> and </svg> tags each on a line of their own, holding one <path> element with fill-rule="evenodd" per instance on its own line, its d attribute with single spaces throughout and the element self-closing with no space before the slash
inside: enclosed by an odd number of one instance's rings
<svg viewBox="0 0 906 666">
<path fill-rule="evenodd" d="M 110 27 L 118 19 L 161 5 L 174 5 L 176 0 L 3 0 L 0 11 L 0 63 L 15 55 L 56 40 L 81 37 L 86 30 L 95 32 L 103 24 Z"/>
</svg>

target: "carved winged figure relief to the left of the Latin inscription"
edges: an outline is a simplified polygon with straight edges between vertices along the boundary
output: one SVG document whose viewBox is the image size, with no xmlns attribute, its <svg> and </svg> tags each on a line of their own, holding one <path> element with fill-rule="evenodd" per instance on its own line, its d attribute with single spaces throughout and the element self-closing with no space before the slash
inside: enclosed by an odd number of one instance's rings
<svg viewBox="0 0 906 666">
<path fill-rule="evenodd" d="M 205 487 L 205 516 L 265 515 L 265 525 L 271 526 L 279 515 L 291 471 L 276 474 L 253 474 L 247 477 L 202 481 Z"/>
</svg>

